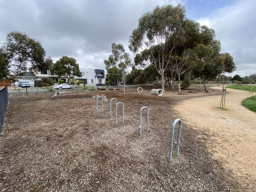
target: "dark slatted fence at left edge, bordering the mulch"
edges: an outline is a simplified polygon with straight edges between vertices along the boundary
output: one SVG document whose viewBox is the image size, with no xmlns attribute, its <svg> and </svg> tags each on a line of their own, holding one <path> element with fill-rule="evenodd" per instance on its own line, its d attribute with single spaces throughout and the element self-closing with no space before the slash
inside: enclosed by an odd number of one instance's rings
<svg viewBox="0 0 256 192">
<path fill-rule="evenodd" d="M 8 87 L 5 86 L 4 89 L 0 90 L 0 132 L 2 131 L 2 126 L 4 124 L 4 115 L 6 112 L 7 103 Z"/>
</svg>

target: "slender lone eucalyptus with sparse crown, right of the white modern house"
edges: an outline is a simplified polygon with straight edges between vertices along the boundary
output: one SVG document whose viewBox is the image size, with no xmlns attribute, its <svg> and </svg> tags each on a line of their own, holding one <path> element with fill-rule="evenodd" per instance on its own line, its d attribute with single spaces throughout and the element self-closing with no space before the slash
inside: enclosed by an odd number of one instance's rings
<svg viewBox="0 0 256 192">
<path fill-rule="evenodd" d="M 124 50 L 122 44 L 112 43 L 112 54 L 108 56 L 108 60 L 104 60 L 106 69 L 117 67 L 123 76 L 123 87 L 125 92 L 125 74 L 128 67 L 132 66 L 130 56 Z"/>
</svg>

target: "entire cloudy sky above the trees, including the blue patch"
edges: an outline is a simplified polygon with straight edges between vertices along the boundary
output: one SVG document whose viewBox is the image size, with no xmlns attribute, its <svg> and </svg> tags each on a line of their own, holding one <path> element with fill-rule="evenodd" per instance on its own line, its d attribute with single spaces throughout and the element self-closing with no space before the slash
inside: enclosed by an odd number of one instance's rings
<svg viewBox="0 0 256 192">
<path fill-rule="evenodd" d="M 17 30 L 40 41 L 55 62 L 74 57 L 81 68 L 104 69 L 111 43 L 128 49 L 140 16 L 156 5 L 182 3 L 187 17 L 216 31 L 241 76 L 256 73 L 256 0 L 0 0 L 0 46 Z"/>
</svg>

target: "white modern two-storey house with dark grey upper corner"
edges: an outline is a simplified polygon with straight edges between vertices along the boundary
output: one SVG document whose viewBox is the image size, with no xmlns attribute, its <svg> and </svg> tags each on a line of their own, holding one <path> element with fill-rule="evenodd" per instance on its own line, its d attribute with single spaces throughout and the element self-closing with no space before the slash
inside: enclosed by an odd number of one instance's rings
<svg viewBox="0 0 256 192">
<path fill-rule="evenodd" d="M 76 79 L 83 81 L 85 84 L 105 83 L 105 70 L 103 69 L 83 69 L 80 68 L 82 77 Z"/>
</svg>

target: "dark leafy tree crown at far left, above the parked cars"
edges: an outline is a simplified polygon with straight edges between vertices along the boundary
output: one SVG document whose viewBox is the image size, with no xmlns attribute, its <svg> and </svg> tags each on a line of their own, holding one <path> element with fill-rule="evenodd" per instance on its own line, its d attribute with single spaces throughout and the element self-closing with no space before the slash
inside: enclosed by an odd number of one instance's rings
<svg viewBox="0 0 256 192">
<path fill-rule="evenodd" d="M 8 63 L 8 73 L 4 78 L 12 82 L 30 71 L 36 76 L 41 70 L 51 68 L 52 59 L 46 57 L 42 44 L 25 33 L 12 31 L 7 34 L 4 45 L 0 48 L 2 57 Z"/>
</svg>

